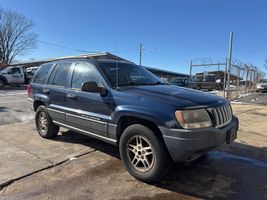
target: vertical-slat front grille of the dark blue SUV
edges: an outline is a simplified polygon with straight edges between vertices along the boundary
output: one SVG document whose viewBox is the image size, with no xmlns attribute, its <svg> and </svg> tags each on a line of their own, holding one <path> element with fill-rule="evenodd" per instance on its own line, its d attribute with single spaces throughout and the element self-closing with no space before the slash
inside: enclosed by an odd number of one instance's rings
<svg viewBox="0 0 267 200">
<path fill-rule="evenodd" d="M 214 116 L 215 128 L 221 128 L 232 121 L 233 114 L 230 104 L 219 108 L 214 108 L 211 110 L 211 112 Z"/>
</svg>

